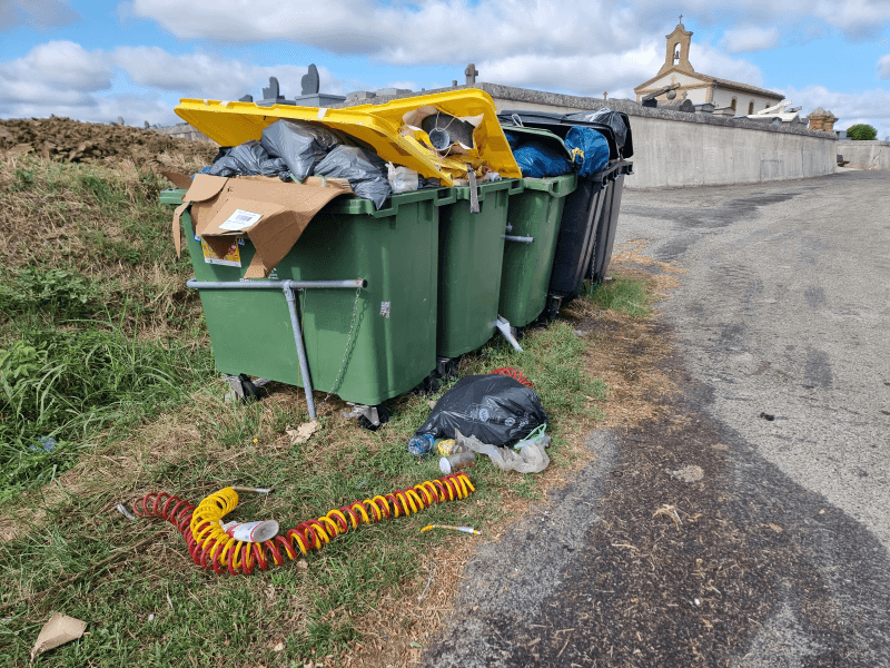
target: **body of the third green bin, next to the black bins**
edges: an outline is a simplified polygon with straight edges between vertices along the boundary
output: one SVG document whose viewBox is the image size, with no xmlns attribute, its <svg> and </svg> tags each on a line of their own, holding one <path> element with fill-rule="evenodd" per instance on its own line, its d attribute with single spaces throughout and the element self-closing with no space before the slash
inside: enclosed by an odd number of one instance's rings
<svg viewBox="0 0 890 668">
<path fill-rule="evenodd" d="M 522 194 L 510 198 L 501 273 L 500 314 L 514 327 L 524 327 L 544 311 L 563 205 L 577 176 L 522 180 Z"/>
</svg>

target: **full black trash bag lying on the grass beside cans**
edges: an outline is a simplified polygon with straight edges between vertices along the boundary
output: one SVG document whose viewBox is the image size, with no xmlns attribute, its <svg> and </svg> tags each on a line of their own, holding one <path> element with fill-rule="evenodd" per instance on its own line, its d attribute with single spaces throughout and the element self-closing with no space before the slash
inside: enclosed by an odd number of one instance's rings
<svg viewBox="0 0 890 668">
<path fill-rule="evenodd" d="M 443 394 L 415 434 L 454 439 L 457 429 L 483 443 L 507 445 L 547 422 L 537 393 L 498 374 L 468 375 Z"/>
</svg>

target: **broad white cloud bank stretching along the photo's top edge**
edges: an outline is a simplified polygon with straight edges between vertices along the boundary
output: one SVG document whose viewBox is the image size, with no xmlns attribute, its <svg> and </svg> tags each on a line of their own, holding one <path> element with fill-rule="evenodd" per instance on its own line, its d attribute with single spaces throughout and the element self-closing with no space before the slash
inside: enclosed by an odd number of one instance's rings
<svg viewBox="0 0 890 668">
<path fill-rule="evenodd" d="M 286 40 L 333 53 L 367 56 L 392 65 L 466 62 L 514 56 L 615 53 L 661 39 L 674 24 L 673 0 L 132 0 L 128 16 L 157 21 L 180 39 L 226 42 Z M 817 0 L 814 3 L 712 0 L 683 4 L 698 24 L 738 22 L 728 43 L 739 52 L 768 48 L 782 23 L 798 31 L 813 19 L 861 39 L 890 19 L 888 0 Z"/>
</svg>

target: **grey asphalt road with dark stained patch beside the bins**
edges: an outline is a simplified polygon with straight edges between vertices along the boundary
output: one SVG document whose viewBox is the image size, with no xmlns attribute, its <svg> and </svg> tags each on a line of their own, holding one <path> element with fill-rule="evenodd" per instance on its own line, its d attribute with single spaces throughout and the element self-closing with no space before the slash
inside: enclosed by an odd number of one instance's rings
<svg viewBox="0 0 890 668">
<path fill-rule="evenodd" d="M 626 190 L 632 239 L 689 269 L 681 392 L 482 550 L 425 665 L 890 666 L 890 173 Z"/>
</svg>

